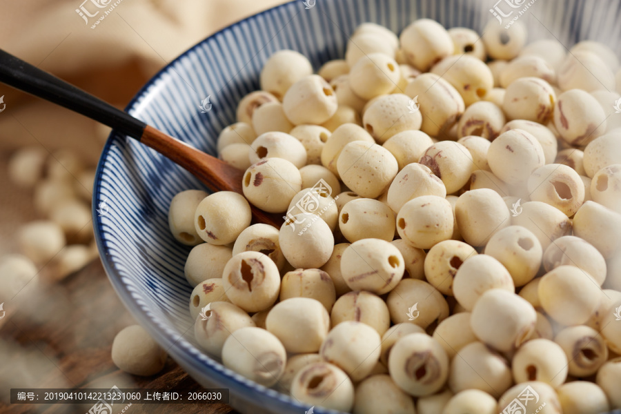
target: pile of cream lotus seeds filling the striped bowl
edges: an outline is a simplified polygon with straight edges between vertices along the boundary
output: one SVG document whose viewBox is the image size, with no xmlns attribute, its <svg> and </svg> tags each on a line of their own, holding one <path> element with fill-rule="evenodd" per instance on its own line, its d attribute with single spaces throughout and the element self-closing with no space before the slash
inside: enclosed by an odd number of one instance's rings
<svg viewBox="0 0 621 414">
<path fill-rule="evenodd" d="M 244 195 L 170 205 L 197 343 L 356 414 L 621 408 L 619 68 L 520 22 L 275 52 L 217 142 Z"/>
</svg>

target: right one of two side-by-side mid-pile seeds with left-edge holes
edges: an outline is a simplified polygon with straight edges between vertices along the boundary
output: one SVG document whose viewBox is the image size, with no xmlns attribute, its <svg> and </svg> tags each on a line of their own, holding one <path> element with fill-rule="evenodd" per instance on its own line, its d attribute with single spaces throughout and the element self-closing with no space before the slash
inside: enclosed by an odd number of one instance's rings
<svg viewBox="0 0 621 414">
<path fill-rule="evenodd" d="M 424 195 L 408 201 L 399 210 L 397 233 L 411 246 L 428 249 L 451 238 L 453 220 L 449 201 Z"/>
</svg>

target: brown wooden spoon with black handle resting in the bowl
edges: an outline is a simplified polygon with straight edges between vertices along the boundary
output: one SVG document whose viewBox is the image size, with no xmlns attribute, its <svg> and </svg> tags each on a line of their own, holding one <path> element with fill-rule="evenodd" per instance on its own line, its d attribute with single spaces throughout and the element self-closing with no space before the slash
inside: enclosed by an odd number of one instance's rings
<svg viewBox="0 0 621 414">
<path fill-rule="evenodd" d="M 0 82 L 28 92 L 39 98 L 57 103 L 90 119 L 101 122 L 137 139 L 168 157 L 175 164 L 185 168 L 197 177 L 209 190 L 235 191 L 243 194 L 242 178 L 244 171 L 226 164 L 202 151 L 192 148 L 179 139 L 145 124 L 127 112 L 118 110 L 110 103 L 90 95 L 88 92 L 35 68 L 25 61 L 0 49 Z M 250 205 L 253 219 L 257 223 L 271 224 L 280 228 L 282 215 L 266 213 Z"/>
</svg>

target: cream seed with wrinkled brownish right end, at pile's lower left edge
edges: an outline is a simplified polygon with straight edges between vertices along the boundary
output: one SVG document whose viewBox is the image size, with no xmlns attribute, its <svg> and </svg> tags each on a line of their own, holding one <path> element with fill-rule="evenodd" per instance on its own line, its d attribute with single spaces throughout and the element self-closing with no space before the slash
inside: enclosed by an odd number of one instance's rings
<svg viewBox="0 0 621 414">
<path fill-rule="evenodd" d="M 277 337 L 265 329 L 239 328 L 222 347 L 222 364 L 264 386 L 273 386 L 284 372 L 287 353 Z"/>
</svg>

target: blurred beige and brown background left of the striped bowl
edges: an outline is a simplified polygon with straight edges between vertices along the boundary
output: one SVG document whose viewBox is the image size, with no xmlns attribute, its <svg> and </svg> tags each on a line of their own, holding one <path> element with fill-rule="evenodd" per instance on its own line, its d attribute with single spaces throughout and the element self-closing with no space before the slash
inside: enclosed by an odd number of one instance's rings
<svg viewBox="0 0 621 414">
<path fill-rule="evenodd" d="M 0 49 L 124 108 L 181 52 L 278 3 L 284 1 L 0 0 Z M 112 6 L 108 15 L 88 15 Z M 92 179 L 108 133 L 0 83 L 0 413 L 88 411 L 11 406 L 10 388 L 190 381 L 170 359 L 163 375 L 146 380 L 120 373 L 110 359 L 116 333 L 135 322 L 92 242 Z"/>
</svg>

